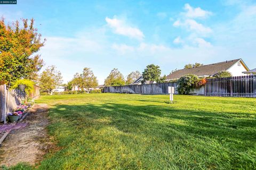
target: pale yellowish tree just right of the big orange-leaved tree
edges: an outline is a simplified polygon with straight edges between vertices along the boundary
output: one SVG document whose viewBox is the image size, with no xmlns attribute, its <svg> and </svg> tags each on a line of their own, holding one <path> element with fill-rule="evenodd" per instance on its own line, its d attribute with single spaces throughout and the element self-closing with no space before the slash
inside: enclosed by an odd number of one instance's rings
<svg viewBox="0 0 256 170">
<path fill-rule="evenodd" d="M 60 71 L 54 65 L 47 67 L 40 75 L 39 85 L 42 91 L 52 95 L 52 90 L 62 83 Z"/>
</svg>

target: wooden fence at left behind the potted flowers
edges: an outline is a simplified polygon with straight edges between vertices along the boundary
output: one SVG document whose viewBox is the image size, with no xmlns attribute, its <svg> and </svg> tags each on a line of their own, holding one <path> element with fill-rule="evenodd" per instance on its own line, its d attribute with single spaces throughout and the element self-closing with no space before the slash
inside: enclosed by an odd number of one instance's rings
<svg viewBox="0 0 256 170">
<path fill-rule="evenodd" d="M 34 92 L 30 94 L 30 98 L 39 96 L 39 87 L 34 86 Z M 25 100 L 26 93 L 24 90 L 7 89 L 6 84 L 0 86 L 0 120 L 5 123 L 8 113 L 17 108 L 22 101 Z"/>
</svg>

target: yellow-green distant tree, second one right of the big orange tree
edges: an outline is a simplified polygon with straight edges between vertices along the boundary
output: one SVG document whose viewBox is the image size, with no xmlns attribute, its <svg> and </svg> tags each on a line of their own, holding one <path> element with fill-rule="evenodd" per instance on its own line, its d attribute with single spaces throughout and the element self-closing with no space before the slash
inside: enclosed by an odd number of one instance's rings
<svg viewBox="0 0 256 170">
<path fill-rule="evenodd" d="M 78 86 L 82 90 L 94 88 L 98 86 L 97 78 L 94 76 L 90 68 L 85 67 L 82 74 L 76 73 L 72 80 L 73 85 Z"/>
</svg>

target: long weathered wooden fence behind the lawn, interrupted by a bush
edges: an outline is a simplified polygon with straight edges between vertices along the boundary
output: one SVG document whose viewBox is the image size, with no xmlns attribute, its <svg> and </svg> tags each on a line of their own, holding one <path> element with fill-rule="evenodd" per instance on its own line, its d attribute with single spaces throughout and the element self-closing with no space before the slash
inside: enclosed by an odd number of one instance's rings
<svg viewBox="0 0 256 170">
<path fill-rule="evenodd" d="M 105 87 L 104 92 L 126 94 L 168 94 L 168 87 L 175 89 L 178 94 L 177 82 L 112 86 Z M 202 96 L 229 96 L 229 97 L 256 97 L 256 75 L 207 79 L 205 86 L 193 89 L 191 95 Z"/>
</svg>

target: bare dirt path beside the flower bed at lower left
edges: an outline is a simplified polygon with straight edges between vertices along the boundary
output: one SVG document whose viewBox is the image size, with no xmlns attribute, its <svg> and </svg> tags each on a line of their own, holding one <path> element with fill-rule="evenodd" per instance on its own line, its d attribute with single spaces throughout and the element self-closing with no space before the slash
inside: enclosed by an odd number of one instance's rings
<svg viewBox="0 0 256 170">
<path fill-rule="evenodd" d="M 49 150 L 51 143 L 47 136 L 47 105 L 36 104 L 22 122 L 28 125 L 12 130 L 0 148 L 0 165 L 12 166 L 19 162 L 34 165 Z"/>
</svg>

